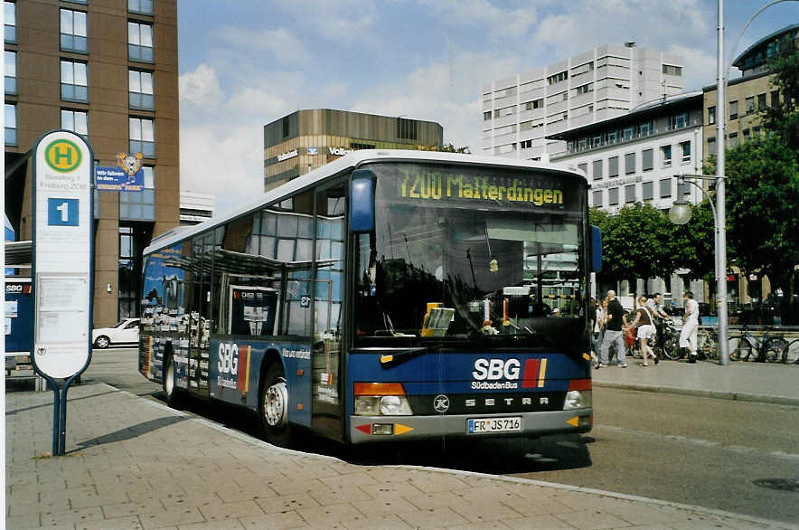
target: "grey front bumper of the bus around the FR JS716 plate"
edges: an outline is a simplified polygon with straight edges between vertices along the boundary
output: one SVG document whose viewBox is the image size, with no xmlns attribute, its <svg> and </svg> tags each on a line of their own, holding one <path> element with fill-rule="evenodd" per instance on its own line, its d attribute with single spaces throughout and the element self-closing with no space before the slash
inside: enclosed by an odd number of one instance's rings
<svg viewBox="0 0 799 530">
<path fill-rule="evenodd" d="M 474 421 L 491 422 L 496 431 L 476 432 Z M 519 427 L 515 428 L 516 419 Z M 482 422 L 485 424 L 485 422 Z M 440 415 L 440 416 L 350 416 L 350 441 L 353 444 L 400 440 L 431 440 L 440 437 L 504 438 L 538 437 L 591 430 L 593 409 L 515 414 Z"/>
</svg>

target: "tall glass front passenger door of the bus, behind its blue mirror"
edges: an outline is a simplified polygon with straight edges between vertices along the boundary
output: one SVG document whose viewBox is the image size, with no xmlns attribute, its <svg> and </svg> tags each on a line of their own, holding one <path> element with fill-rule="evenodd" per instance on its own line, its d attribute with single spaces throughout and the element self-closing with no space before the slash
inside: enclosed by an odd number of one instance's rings
<svg viewBox="0 0 799 530">
<path fill-rule="evenodd" d="M 343 437 L 343 246 L 346 181 L 316 193 L 314 347 L 311 424 Z"/>
</svg>

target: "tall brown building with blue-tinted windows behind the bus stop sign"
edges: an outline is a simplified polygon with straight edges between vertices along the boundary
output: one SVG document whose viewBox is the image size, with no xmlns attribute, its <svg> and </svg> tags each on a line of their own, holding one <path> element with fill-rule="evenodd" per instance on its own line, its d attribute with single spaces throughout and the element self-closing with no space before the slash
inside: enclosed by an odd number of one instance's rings
<svg viewBox="0 0 799 530">
<path fill-rule="evenodd" d="M 94 324 L 138 314 L 141 253 L 178 224 L 175 0 L 24 0 L 5 9 L 5 212 L 31 239 L 30 150 L 53 129 L 98 166 L 143 153 L 145 189 L 95 191 Z"/>
</svg>

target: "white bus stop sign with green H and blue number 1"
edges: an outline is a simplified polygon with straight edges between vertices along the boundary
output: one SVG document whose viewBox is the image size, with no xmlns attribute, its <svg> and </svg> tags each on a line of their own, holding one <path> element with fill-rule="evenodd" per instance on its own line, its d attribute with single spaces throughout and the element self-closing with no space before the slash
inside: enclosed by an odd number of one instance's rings
<svg viewBox="0 0 799 530">
<path fill-rule="evenodd" d="M 31 362 L 55 394 L 53 456 L 64 454 L 67 390 L 91 361 L 93 166 L 89 144 L 70 131 L 49 132 L 33 147 Z"/>
</svg>

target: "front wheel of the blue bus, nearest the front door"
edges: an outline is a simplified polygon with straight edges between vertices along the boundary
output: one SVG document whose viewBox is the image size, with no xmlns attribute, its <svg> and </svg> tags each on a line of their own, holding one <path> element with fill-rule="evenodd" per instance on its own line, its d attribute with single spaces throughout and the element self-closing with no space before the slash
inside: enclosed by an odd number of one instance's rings
<svg viewBox="0 0 799 530">
<path fill-rule="evenodd" d="M 272 363 L 262 380 L 258 392 L 258 418 L 264 440 L 278 447 L 287 447 L 290 444 L 288 387 L 286 374 L 280 363 Z"/>
</svg>

